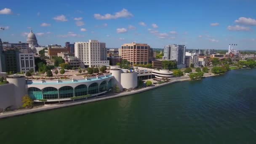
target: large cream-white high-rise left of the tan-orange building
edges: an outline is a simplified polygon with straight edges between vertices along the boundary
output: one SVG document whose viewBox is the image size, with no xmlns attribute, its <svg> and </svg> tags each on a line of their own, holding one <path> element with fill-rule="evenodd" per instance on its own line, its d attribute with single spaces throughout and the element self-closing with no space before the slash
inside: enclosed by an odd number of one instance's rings
<svg viewBox="0 0 256 144">
<path fill-rule="evenodd" d="M 75 57 L 80 59 L 88 67 L 109 65 L 106 44 L 100 43 L 98 40 L 75 42 Z"/>
</svg>

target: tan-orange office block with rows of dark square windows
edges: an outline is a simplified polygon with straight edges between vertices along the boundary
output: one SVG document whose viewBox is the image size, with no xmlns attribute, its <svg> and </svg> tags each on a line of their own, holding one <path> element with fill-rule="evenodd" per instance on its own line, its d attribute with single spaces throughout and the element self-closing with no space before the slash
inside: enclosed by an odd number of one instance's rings
<svg viewBox="0 0 256 144">
<path fill-rule="evenodd" d="M 147 44 L 141 43 L 125 43 L 122 45 L 122 59 L 126 59 L 133 64 L 149 63 L 149 48 Z"/>
</svg>

